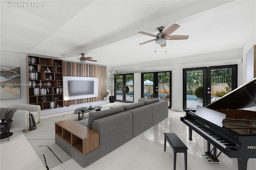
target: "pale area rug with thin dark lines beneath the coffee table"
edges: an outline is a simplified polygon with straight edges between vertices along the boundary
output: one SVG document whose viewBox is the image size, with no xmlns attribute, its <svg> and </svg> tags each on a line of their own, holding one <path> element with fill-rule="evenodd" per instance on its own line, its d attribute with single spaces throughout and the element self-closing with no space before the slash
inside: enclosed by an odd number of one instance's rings
<svg viewBox="0 0 256 170">
<path fill-rule="evenodd" d="M 102 107 L 101 110 L 109 108 L 110 107 Z M 88 113 L 84 114 L 83 119 L 87 118 Z M 34 148 L 46 169 L 54 168 L 71 159 L 71 157 L 55 143 L 55 122 L 64 121 L 66 119 L 78 121 L 78 115 L 70 112 L 64 115 L 43 118 L 40 120 L 40 123 L 36 124 L 37 129 L 29 132 L 23 130 L 28 142 Z"/>
</svg>

